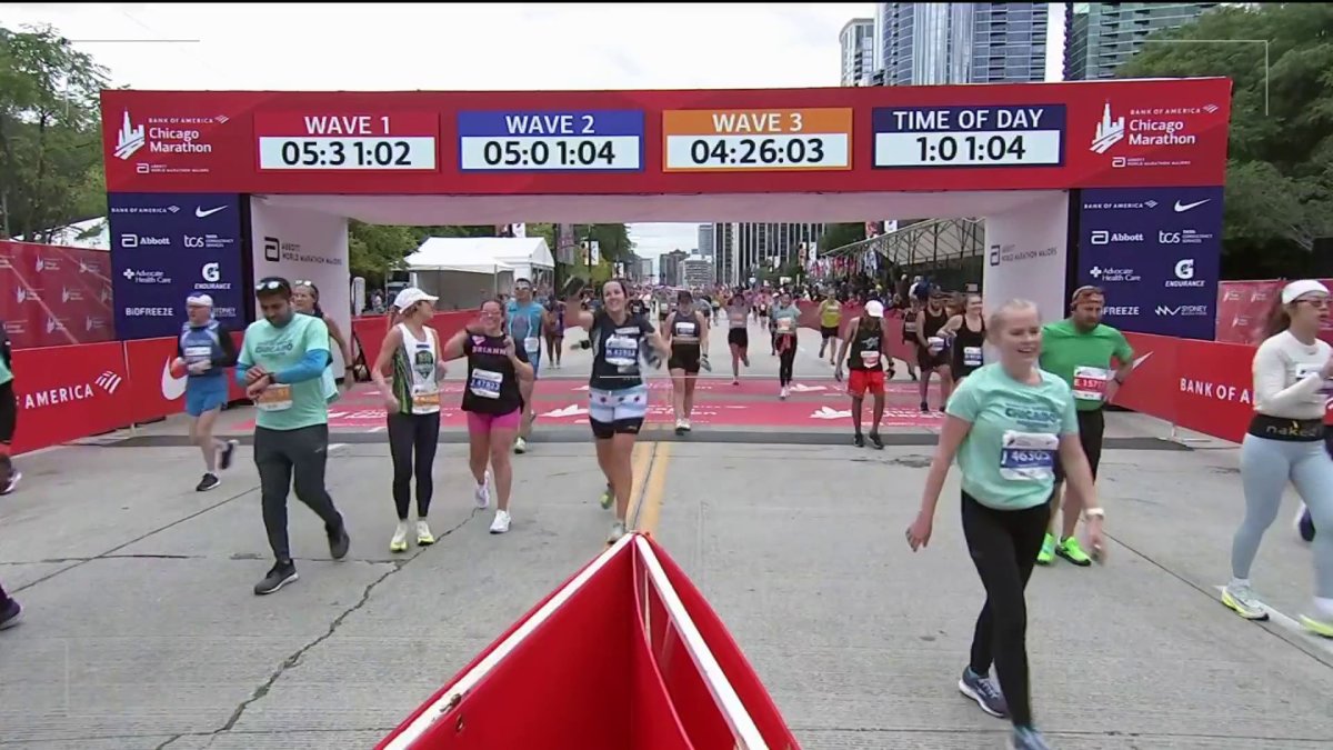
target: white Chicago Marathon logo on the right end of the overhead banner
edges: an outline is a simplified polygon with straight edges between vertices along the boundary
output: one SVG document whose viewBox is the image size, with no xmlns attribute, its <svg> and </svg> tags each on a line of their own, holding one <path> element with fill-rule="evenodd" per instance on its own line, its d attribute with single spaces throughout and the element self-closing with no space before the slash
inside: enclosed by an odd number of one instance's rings
<svg viewBox="0 0 1333 750">
<path fill-rule="evenodd" d="M 1093 132 L 1088 149 L 1093 153 L 1106 153 L 1126 143 L 1134 148 L 1169 148 L 1192 147 L 1198 144 L 1197 129 L 1190 127 L 1189 120 L 1201 115 L 1213 115 L 1220 109 L 1217 104 L 1204 104 L 1201 107 L 1140 107 L 1130 108 L 1128 115 L 1120 113 L 1108 100 L 1102 108 L 1101 121 Z M 1117 149 L 1118 151 L 1118 149 Z M 1170 151 L 1169 153 L 1178 153 Z M 1193 160 L 1180 156 L 1124 156 L 1112 153 L 1110 165 L 1124 167 L 1188 167 Z"/>
</svg>

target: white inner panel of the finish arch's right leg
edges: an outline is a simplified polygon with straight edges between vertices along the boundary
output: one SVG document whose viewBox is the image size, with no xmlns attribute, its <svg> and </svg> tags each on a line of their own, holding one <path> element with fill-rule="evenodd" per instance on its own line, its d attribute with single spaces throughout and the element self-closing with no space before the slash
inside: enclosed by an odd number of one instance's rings
<svg viewBox="0 0 1333 750">
<path fill-rule="evenodd" d="M 981 294 L 992 304 L 1030 299 L 1046 320 L 1062 318 L 1068 246 L 1066 192 L 1034 195 L 1032 203 L 986 216 Z"/>
</svg>

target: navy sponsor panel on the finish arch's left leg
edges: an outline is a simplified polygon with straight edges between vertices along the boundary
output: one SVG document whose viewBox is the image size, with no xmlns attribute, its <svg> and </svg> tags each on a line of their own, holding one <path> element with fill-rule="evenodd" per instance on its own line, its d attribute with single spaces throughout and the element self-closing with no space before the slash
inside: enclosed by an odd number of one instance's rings
<svg viewBox="0 0 1333 750">
<path fill-rule="evenodd" d="M 119 338 L 176 335 L 192 294 L 244 327 L 240 196 L 111 194 L 107 203 Z"/>
</svg>

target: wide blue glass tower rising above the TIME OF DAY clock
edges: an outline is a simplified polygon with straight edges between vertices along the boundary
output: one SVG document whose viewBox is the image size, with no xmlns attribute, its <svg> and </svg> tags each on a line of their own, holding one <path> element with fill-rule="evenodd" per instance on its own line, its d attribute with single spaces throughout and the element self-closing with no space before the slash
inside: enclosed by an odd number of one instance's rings
<svg viewBox="0 0 1333 750">
<path fill-rule="evenodd" d="M 878 85 L 1046 79 L 1046 3 L 877 3 Z"/>
</svg>

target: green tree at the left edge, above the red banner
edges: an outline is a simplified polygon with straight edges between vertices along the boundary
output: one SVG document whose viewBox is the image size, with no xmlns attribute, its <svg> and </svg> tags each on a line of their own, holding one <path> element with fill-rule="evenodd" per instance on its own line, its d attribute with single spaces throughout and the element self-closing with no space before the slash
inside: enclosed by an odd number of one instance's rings
<svg viewBox="0 0 1333 750">
<path fill-rule="evenodd" d="M 45 242 L 105 214 L 107 69 L 51 27 L 0 27 L 0 235 Z"/>
</svg>

